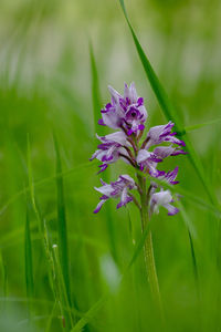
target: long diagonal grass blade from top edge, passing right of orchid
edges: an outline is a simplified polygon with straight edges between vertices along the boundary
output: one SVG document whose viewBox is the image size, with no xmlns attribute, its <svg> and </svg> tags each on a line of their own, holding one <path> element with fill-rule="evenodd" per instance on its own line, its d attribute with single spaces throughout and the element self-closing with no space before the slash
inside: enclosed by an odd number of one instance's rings
<svg viewBox="0 0 221 332">
<path fill-rule="evenodd" d="M 126 9 L 125 9 L 124 0 L 119 0 L 119 3 L 120 3 L 120 7 L 123 9 L 125 19 L 128 23 L 129 30 L 131 32 L 131 35 L 133 35 L 133 39 L 134 39 L 139 59 L 143 63 L 145 73 L 147 75 L 147 79 L 148 79 L 151 87 L 152 87 L 152 91 L 155 92 L 155 95 L 158 100 L 158 103 L 159 103 L 166 118 L 168 121 L 171 120 L 175 123 L 175 129 L 178 133 L 178 135 L 185 136 L 186 148 L 188 151 L 189 159 L 190 159 L 191 164 L 193 165 L 193 167 L 196 169 L 196 173 L 198 174 L 198 176 L 199 176 L 199 178 L 200 178 L 200 180 L 201 180 L 201 183 L 204 187 L 204 190 L 207 191 L 211 203 L 217 205 L 217 198 L 214 196 L 214 193 L 213 193 L 209 181 L 206 179 L 204 170 L 203 170 L 201 160 L 199 159 L 198 155 L 196 154 L 196 152 L 192 147 L 192 144 L 191 144 L 189 137 L 187 136 L 185 127 L 181 124 L 179 114 L 178 114 L 177 110 L 173 107 L 173 105 L 171 104 L 171 102 L 168 97 L 168 94 L 166 93 L 164 86 L 159 82 L 159 79 L 158 79 L 157 74 L 155 73 L 149 60 L 147 59 L 147 56 L 146 56 L 146 54 L 145 54 L 145 52 L 144 52 L 144 50 L 143 50 L 143 48 L 141 48 L 141 45 L 140 45 L 140 43 L 139 43 L 135 32 L 134 32 L 134 29 L 131 28 L 131 24 L 129 22 L 129 19 L 128 19 Z"/>
</svg>

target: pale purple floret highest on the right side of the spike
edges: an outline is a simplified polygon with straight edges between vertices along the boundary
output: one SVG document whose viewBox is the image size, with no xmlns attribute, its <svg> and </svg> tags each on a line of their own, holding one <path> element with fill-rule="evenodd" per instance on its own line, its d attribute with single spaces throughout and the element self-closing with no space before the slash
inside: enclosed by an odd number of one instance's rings
<svg viewBox="0 0 221 332">
<path fill-rule="evenodd" d="M 170 121 L 166 125 L 151 127 L 147 134 L 145 147 L 148 149 L 152 145 L 158 145 L 164 142 L 170 142 L 172 144 L 185 146 L 185 142 L 175 137 L 176 133 L 172 133 L 173 123 Z"/>
</svg>

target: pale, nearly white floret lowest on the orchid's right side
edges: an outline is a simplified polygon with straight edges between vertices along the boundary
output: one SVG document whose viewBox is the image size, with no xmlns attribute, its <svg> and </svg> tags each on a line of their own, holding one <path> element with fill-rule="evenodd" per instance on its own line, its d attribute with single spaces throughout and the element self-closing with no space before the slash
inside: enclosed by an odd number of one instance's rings
<svg viewBox="0 0 221 332">
<path fill-rule="evenodd" d="M 159 193 L 154 193 L 150 197 L 150 212 L 159 212 L 159 207 L 162 206 L 168 210 L 168 216 L 176 215 L 179 209 L 171 205 L 173 201 L 169 190 L 161 189 Z"/>
</svg>

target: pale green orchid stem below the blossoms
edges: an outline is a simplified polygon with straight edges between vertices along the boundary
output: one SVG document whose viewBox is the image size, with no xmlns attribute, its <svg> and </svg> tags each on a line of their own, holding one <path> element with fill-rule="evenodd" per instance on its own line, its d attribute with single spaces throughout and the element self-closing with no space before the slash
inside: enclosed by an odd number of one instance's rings
<svg viewBox="0 0 221 332">
<path fill-rule="evenodd" d="M 140 195 L 140 198 L 141 198 L 140 216 L 141 216 L 141 230 L 144 232 L 145 228 L 147 227 L 148 219 L 149 219 L 148 218 L 148 208 L 147 208 L 148 195 L 146 193 L 146 179 L 144 177 L 138 176 L 138 181 L 143 189 L 143 193 Z M 161 319 L 164 320 L 161 297 L 160 297 L 158 277 L 157 277 L 156 264 L 155 264 L 151 232 L 148 234 L 148 236 L 145 240 L 144 257 L 145 257 L 147 277 L 148 277 L 152 299 L 155 301 L 156 307 L 160 311 Z"/>
</svg>

